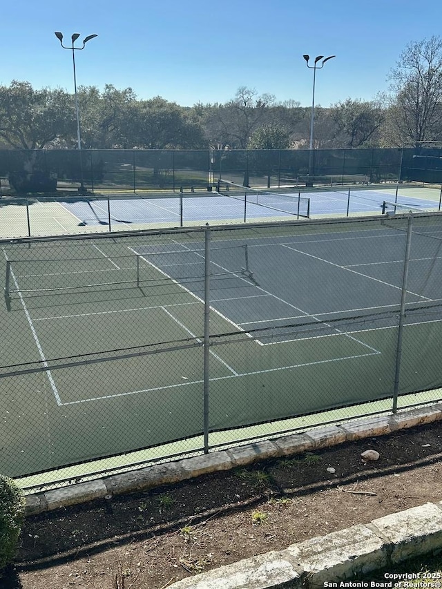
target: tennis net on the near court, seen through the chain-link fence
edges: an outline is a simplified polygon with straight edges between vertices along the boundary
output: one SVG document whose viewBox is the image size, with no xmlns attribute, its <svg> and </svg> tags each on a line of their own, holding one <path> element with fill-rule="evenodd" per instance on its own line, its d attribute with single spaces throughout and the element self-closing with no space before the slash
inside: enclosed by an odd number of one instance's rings
<svg viewBox="0 0 442 589">
<path fill-rule="evenodd" d="M 194 244 L 192 249 L 180 246 L 142 247 L 130 255 L 85 258 L 40 258 L 6 260 L 4 298 L 6 309 L 23 304 L 23 299 L 57 297 L 57 304 L 100 301 L 120 297 L 122 289 L 141 289 L 146 295 L 159 298 L 175 292 L 180 285 L 200 291 L 206 271 L 204 249 Z M 211 250 L 211 278 L 231 278 L 253 281 L 249 267 L 247 242 L 239 246 L 213 247 Z M 92 298 L 91 298 L 92 296 Z M 61 297 L 67 297 L 64 301 Z M 53 302 L 51 300 L 51 302 Z M 49 303 L 46 302 L 46 305 Z M 55 303 L 54 303 L 55 304 Z M 38 302 L 35 302 L 38 305 Z"/>
</svg>

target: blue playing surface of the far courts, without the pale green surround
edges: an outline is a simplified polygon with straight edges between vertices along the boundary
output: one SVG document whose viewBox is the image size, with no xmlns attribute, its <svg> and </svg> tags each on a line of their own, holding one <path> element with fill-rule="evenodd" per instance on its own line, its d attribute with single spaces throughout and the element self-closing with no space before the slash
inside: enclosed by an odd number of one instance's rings
<svg viewBox="0 0 442 589">
<path fill-rule="evenodd" d="M 410 206 L 410 209 L 422 211 L 434 211 L 439 207 L 439 197 L 434 200 L 408 195 L 398 195 L 397 200 L 394 191 L 383 190 L 357 190 L 348 194 L 348 189 L 343 191 L 318 191 L 314 193 L 301 193 L 305 200 L 309 198 L 309 216 L 322 217 L 325 215 L 358 215 L 381 214 L 383 203 L 396 202 Z M 173 195 L 171 197 L 113 197 L 109 200 L 94 199 L 77 202 L 62 202 L 67 211 L 75 215 L 79 225 L 97 226 L 112 225 L 127 226 L 143 224 L 167 224 L 180 226 L 180 224 L 195 222 L 243 222 L 244 220 L 280 220 L 293 219 L 297 215 L 298 193 L 281 193 L 275 195 L 274 202 L 266 205 L 256 204 L 240 195 L 235 197 L 220 195 L 218 193 L 203 193 L 192 195 L 191 193 Z M 393 209 L 388 206 L 385 211 Z M 305 216 L 301 207 L 301 217 Z M 396 211 L 407 212 L 407 211 Z M 132 227 L 133 228 L 133 227 Z"/>
</svg>

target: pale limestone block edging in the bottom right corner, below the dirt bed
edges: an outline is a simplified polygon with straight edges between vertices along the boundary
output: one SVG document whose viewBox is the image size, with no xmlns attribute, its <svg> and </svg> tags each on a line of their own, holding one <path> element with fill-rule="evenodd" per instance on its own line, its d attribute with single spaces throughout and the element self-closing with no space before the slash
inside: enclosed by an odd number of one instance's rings
<svg viewBox="0 0 442 589">
<path fill-rule="evenodd" d="M 410 557 L 442 548 L 442 501 L 353 525 L 177 581 L 169 589 L 315 589 L 338 587 Z M 390 574 L 377 587 L 392 588 Z M 422 581 L 431 581 L 422 577 Z M 327 584 L 326 584 L 327 583 Z M 336 584 L 333 584 L 336 583 Z M 356 586 L 356 585 L 354 585 Z M 370 584 L 358 584 L 369 587 Z M 428 585 L 430 586 L 430 585 Z"/>
</svg>

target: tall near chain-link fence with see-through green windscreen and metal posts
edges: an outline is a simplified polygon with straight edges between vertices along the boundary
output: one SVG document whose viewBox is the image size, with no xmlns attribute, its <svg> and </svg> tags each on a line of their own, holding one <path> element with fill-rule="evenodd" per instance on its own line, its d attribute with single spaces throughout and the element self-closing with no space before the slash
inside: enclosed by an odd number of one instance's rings
<svg viewBox="0 0 442 589">
<path fill-rule="evenodd" d="M 440 400 L 440 213 L 0 244 L 26 488 Z"/>
</svg>

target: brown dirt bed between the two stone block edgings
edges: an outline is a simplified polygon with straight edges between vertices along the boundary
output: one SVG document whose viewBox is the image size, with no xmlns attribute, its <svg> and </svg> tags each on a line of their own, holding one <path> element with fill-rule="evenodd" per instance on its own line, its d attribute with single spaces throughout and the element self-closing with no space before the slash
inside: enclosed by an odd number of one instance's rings
<svg viewBox="0 0 442 589">
<path fill-rule="evenodd" d="M 367 449 L 380 459 L 364 462 Z M 441 457 L 442 422 L 435 422 L 40 514 L 26 521 L 16 566 L 2 586 L 164 589 L 198 572 L 441 501 Z"/>
</svg>

